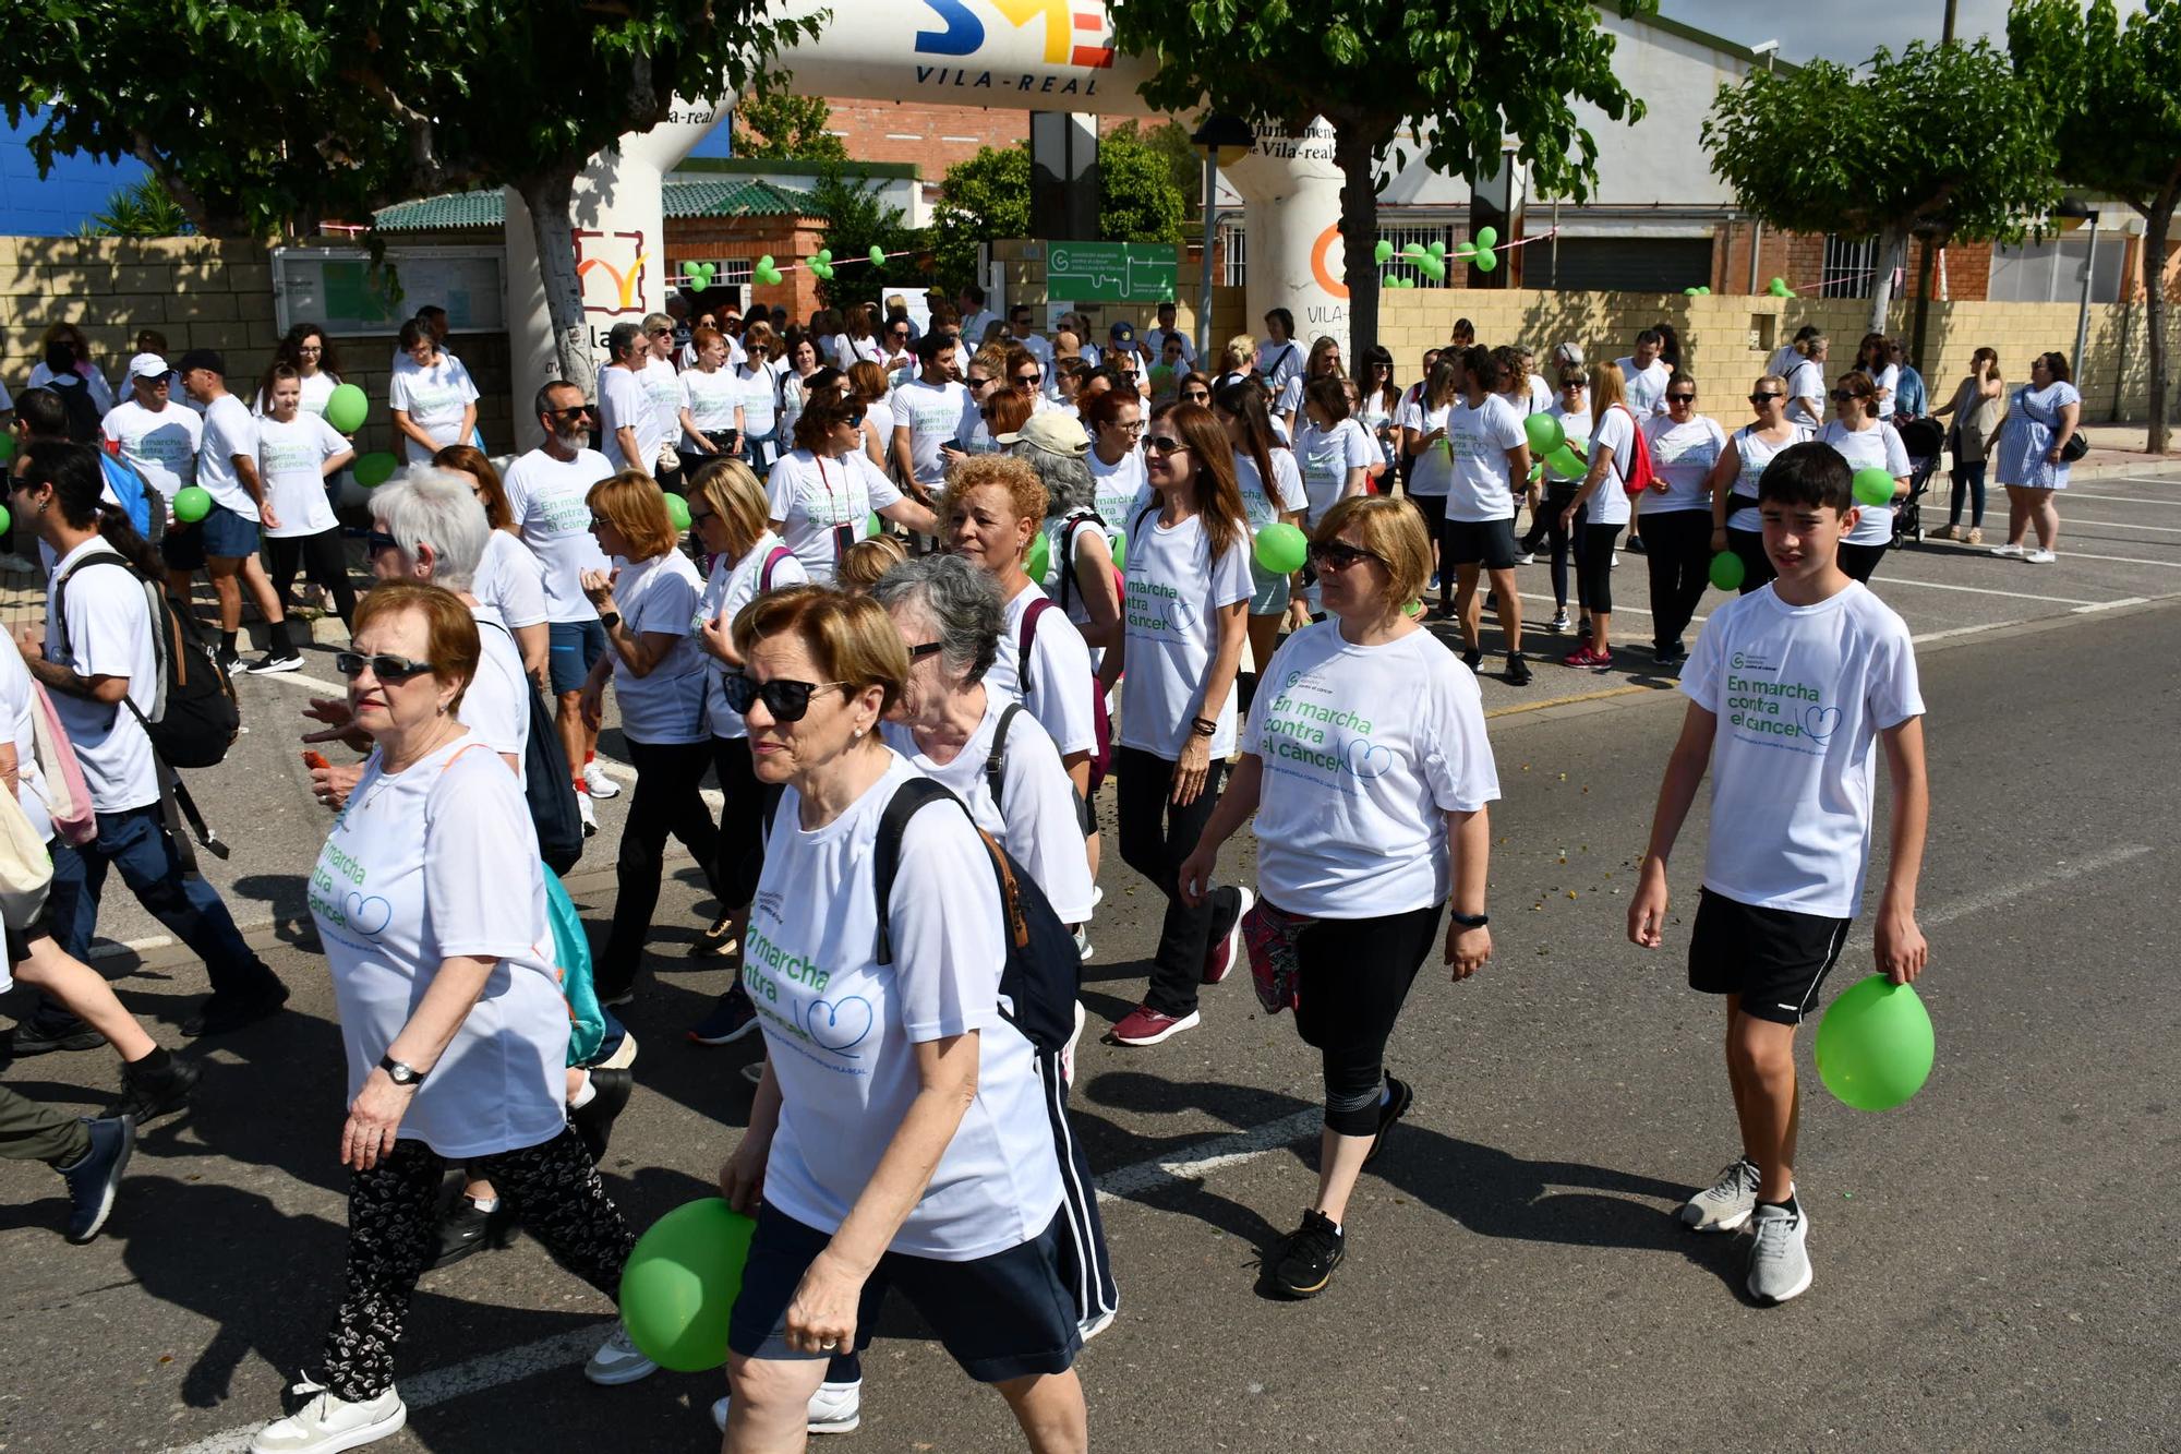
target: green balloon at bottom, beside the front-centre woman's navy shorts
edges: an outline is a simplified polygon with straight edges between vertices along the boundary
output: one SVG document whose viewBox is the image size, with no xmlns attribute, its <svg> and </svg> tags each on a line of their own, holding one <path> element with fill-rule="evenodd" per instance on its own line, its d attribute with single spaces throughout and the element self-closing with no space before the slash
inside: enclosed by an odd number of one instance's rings
<svg viewBox="0 0 2181 1454">
<path fill-rule="evenodd" d="M 643 1356 L 676 1373 L 726 1362 L 726 1323 L 757 1231 L 726 1201 L 674 1207 L 637 1238 L 622 1268 L 622 1323 Z"/>
</svg>

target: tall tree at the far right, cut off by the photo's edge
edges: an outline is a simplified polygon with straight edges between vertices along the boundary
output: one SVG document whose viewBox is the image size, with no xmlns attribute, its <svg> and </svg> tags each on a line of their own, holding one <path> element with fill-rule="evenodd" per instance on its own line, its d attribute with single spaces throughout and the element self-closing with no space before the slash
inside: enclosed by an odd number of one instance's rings
<svg viewBox="0 0 2181 1454">
<path fill-rule="evenodd" d="M 2150 327 L 2150 448 L 2168 448 L 2166 247 L 2181 203 L 2181 4 L 2150 0 L 2126 26 L 2113 0 L 2015 0 L 2007 48 L 2044 103 L 2072 186 L 2118 196 L 2144 216 L 2144 312 Z M 2074 360 L 2081 369 L 2083 360 Z"/>
</svg>

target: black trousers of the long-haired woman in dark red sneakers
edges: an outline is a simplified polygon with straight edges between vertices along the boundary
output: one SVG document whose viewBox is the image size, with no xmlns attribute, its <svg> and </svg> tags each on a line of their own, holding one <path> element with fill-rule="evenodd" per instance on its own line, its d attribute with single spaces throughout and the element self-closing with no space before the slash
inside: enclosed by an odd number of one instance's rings
<svg viewBox="0 0 2181 1454">
<path fill-rule="evenodd" d="M 1180 895 L 1182 860 L 1197 849 L 1204 823 L 1219 806 L 1224 771 L 1226 762 L 1213 758 L 1197 801 L 1176 808 L 1167 801 L 1173 762 L 1141 747 L 1114 749 L 1114 773 L 1121 777 L 1121 860 L 1167 895 L 1167 919 L 1158 930 L 1158 956 L 1152 961 L 1152 987 L 1143 1002 L 1176 1020 L 1195 1013 L 1213 939 L 1232 930 L 1241 915 L 1241 893 L 1228 886 L 1213 889 L 1195 908 L 1182 904 Z"/>
</svg>

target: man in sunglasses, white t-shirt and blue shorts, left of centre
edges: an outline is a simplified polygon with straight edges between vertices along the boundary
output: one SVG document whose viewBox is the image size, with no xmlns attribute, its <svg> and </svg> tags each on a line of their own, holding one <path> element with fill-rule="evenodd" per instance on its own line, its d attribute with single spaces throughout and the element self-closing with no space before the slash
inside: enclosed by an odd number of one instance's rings
<svg viewBox="0 0 2181 1454">
<path fill-rule="evenodd" d="M 619 338 L 622 323 L 613 330 Z M 626 345 L 635 351 L 635 334 Z M 602 369 L 604 380 L 613 369 Z M 628 369 L 619 369 L 628 373 Z M 506 474 L 508 511 L 523 544 L 539 557 L 545 574 L 545 631 L 550 637 L 547 675 L 556 703 L 561 744 L 567 749 L 569 766 L 576 768 L 576 808 L 582 812 L 585 832 L 593 832 L 598 821 L 591 812 L 593 797 L 613 797 L 619 784 L 606 777 L 598 764 L 598 731 L 582 720 L 582 683 L 591 668 L 606 655 L 606 629 L 598 620 L 598 607 L 582 594 L 582 572 L 606 570 L 606 557 L 591 535 L 591 487 L 615 474 L 604 454 L 591 448 L 591 406 L 582 402 L 582 389 L 554 380 L 539 389 L 539 424 L 545 428 L 545 443 L 523 454 Z"/>
</svg>

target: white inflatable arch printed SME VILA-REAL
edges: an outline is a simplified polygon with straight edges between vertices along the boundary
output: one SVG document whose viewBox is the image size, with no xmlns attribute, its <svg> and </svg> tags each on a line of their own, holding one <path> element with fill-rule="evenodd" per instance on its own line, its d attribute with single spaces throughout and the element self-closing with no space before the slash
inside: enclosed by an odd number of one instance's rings
<svg viewBox="0 0 2181 1454">
<path fill-rule="evenodd" d="M 831 11 L 818 39 L 779 59 L 800 94 L 1149 114 L 1136 94 L 1149 68 L 1112 50 L 1101 0 L 790 0 L 781 9 L 790 15 Z M 694 105 L 661 127 L 624 135 L 576 179 L 576 266 L 593 347 L 615 323 L 663 308 L 661 181 L 728 105 L 728 98 L 718 107 Z M 1341 175 L 1333 166 L 1330 127 L 1313 122 L 1300 138 L 1261 129 L 1250 155 L 1224 170 L 1243 196 L 1250 229 L 1248 317 L 1289 308 L 1300 334 L 1333 334 L 1346 343 Z M 528 400 L 558 367 L 530 216 L 513 190 L 506 194 L 506 249 L 515 397 Z M 523 448 L 537 443 L 537 421 L 523 421 L 519 434 Z"/>
</svg>

